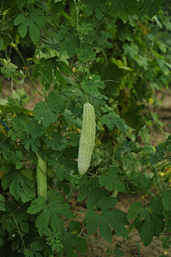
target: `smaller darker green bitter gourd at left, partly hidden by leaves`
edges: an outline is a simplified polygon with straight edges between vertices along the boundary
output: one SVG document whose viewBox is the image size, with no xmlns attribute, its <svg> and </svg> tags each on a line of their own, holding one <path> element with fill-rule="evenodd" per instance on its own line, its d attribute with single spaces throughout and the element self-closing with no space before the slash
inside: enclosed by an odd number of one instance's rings
<svg viewBox="0 0 171 257">
<path fill-rule="evenodd" d="M 46 161 L 43 161 L 41 156 L 38 156 L 38 164 L 36 168 L 36 181 L 37 181 L 38 196 L 43 196 L 46 201 L 46 193 L 47 193 Z"/>
</svg>

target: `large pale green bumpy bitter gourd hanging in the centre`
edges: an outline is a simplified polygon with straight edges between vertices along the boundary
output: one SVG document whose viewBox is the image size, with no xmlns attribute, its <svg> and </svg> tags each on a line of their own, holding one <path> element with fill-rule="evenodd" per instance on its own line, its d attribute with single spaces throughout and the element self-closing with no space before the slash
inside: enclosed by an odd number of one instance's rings
<svg viewBox="0 0 171 257">
<path fill-rule="evenodd" d="M 83 121 L 81 138 L 78 149 L 78 171 L 81 176 L 88 171 L 95 145 L 95 111 L 94 107 L 86 103 L 83 106 Z"/>
</svg>

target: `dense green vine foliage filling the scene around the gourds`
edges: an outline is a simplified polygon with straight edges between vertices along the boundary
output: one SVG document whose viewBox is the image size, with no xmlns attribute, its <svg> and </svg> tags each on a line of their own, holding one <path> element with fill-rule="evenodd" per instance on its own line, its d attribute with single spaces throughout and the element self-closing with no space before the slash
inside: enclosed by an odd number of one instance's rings
<svg viewBox="0 0 171 257">
<path fill-rule="evenodd" d="M 147 128 L 158 120 L 154 92 L 170 91 L 169 1 L 3 0 L 0 9 L 1 80 L 11 79 L 11 96 L 0 100 L 1 257 L 86 256 L 83 226 L 88 235 L 99 226 L 106 244 L 115 234 L 124 242 L 133 228 L 144 246 L 170 232 L 171 135 L 151 146 Z M 95 148 L 80 176 L 86 102 L 95 109 Z M 47 192 L 46 182 L 37 191 L 36 169 L 42 181 L 47 171 Z M 86 199 L 82 223 L 68 204 L 73 189 Z M 151 197 L 147 208 L 113 208 L 117 192 L 138 191 Z M 121 246 L 105 256 L 124 256 Z"/>
</svg>

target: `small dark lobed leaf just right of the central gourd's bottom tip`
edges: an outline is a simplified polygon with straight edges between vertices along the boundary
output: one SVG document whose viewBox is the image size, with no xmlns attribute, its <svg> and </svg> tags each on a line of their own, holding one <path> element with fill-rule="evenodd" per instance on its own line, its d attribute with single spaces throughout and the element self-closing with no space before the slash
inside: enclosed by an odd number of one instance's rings
<svg viewBox="0 0 171 257">
<path fill-rule="evenodd" d="M 120 176 L 118 176 L 118 172 L 120 172 L 120 169 L 118 167 L 110 166 L 108 176 L 103 175 L 99 177 L 100 186 L 105 186 L 105 188 L 110 192 L 113 191 L 114 188 L 116 188 L 119 192 L 124 193 L 125 186 L 124 183 L 121 181 Z"/>
</svg>

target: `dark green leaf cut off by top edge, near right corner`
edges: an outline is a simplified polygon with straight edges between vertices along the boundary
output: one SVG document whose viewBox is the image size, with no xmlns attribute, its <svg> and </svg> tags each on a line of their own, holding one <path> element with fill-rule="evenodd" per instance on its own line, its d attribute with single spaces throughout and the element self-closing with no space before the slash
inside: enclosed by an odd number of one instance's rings
<svg viewBox="0 0 171 257">
<path fill-rule="evenodd" d="M 161 2 L 158 0 L 155 1 L 149 1 L 144 0 L 137 4 L 137 7 L 139 9 L 138 16 L 143 17 L 145 14 L 149 16 L 149 18 L 152 18 L 152 16 L 155 15 L 160 10 Z"/>
</svg>

